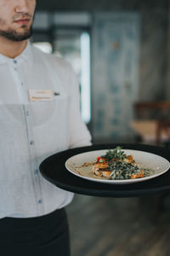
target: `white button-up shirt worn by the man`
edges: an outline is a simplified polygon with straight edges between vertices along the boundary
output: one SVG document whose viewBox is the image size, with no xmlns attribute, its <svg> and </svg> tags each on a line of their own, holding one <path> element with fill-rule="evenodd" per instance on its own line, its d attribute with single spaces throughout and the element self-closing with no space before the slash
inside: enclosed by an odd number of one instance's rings
<svg viewBox="0 0 170 256">
<path fill-rule="evenodd" d="M 30 90 L 50 90 L 52 101 L 31 102 Z M 41 216 L 70 203 L 73 194 L 45 180 L 39 165 L 90 139 L 67 62 L 29 42 L 15 59 L 0 55 L 0 218 Z"/>
</svg>

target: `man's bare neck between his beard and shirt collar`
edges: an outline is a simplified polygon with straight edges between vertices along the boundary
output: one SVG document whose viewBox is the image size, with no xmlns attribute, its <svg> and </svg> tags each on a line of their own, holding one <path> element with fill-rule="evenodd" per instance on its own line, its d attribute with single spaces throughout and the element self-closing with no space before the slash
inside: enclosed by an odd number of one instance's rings
<svg viewBox="0 0 170 256">
<path fill-rule="evenodd" d="M 26 48 L 26 44 L 27 40 L 11 41 L 0 37 L 0 53 L 8 58 L 14 59 L 23 52 L 23 50 Z"/>
</svg>

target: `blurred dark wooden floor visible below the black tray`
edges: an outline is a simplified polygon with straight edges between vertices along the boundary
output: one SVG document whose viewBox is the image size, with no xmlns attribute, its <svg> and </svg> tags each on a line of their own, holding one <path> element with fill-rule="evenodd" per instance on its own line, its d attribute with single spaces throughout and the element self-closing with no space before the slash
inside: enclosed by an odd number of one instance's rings
<svg viewBox="0 0 170 256">
<path fill-rule="evenodd" d="M 66 207 L 71 256 L 170 256 L 170 195 L 159 214 L 156 198 L 75 195 Z"/>
</svg>

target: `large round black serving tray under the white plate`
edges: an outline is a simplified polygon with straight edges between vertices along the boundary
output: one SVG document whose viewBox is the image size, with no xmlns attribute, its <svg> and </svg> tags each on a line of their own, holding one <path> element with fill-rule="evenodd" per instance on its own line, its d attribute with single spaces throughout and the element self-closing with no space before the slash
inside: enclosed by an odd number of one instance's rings
<svg viewBox="0 0 170 256">
<path fill-rule="evenodd" d="M 65 189 L 82 195 L 107 196 L 107 197 L 131 197 L 140 196 L 164 191 L 170 191 L 170 170 L 159 177 L 150 180 L 129 183 L 129 184 L 108 184 L 97 183 L 87 179 L 77 177 L 68 172 L 65 168 L 65 160 L 75 154 L 88 151 L 116 148 L 122 146 L 122 149 L 136 149 L 153 154 L 158 154 L 167 160 L 170 160 L 170 150 L 167 148 L 144 145 L 144 144 L 102 144 L 82 148 L 68 149 L 48 157 L 40 165 L 42 176 L 49 182 L 54 183 L 60 189 Z"/>
</svg>

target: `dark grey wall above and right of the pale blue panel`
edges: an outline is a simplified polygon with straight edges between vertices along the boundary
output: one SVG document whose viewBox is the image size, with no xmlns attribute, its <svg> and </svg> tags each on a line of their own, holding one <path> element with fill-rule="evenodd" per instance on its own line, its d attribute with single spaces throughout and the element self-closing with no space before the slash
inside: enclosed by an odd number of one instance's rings
<svg viewBox="0 0 170 256">
<path fill-rule="evenodd" d="M 141 17 L 139 97 L 142 101 L 170 98 L 167 89 L 167 32 L 169 0 L 41 0 L 37 9 L 50 11 L 130 11 Z M 169 35 L 169 32 L 168 32 Z M 169 36 L 170 37 L 170 36 Z M 168 49 L 170 51 L 170 49 Z M 169 62 L 169 61 L 168 61 Z M 168 69 L 169 64 L 168 64 Z M 167 96 L 168 95 L 168 96 Z"/>
</svg>

